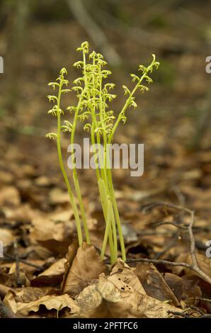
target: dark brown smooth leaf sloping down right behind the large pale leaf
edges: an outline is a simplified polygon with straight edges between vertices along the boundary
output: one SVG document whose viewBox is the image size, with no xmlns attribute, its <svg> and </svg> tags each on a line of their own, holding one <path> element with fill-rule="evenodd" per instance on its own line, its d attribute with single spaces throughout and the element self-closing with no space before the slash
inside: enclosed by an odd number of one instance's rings
<svg viewBox="0 0 211 333">
<path fill-rule="evenodd" d="M 173 291 L 153 264 L 137 264 L 135 274 L 139 277 L 148 296 L 156 298 L 156 300 L 171 300 L 173 305 L 180 305 L 176 295 L 173 294 Z"/>
</svg>

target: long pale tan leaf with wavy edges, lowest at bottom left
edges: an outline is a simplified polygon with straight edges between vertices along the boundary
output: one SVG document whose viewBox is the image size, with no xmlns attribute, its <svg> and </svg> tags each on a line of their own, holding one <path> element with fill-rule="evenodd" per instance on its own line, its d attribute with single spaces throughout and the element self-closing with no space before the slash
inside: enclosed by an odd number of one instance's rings
<svg viewBox="0 0 211 333">
<path fill-rule="evenodd" d="M 30 311 L 38 312 L 40 305 L 45 305 L 47 310 L 62 310 L 64 307 L 68 307 L 72 313 L 79 312 L 79 307 L 69 295 L 45 295 L 38 300 L 29 303 L 17 302 L 13 298 L 11 292 L 9 292 L 4 298 L 4 304 L 7 305 L 14 313 L 20 313 L 22 315 L 28 315 Z"/>
</svg>

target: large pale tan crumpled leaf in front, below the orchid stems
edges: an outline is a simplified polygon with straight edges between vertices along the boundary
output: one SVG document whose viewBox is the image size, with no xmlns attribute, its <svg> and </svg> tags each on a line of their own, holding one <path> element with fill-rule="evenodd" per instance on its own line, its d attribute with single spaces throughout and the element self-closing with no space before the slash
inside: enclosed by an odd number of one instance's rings
<svg viewBox="0 0 211 333">
<path fill-rule="evenodd" d="M 114 274 L 115 275 L 115 274 Z M 132 295 L 133 294 L 133 295 Z M 76 304 L 83 317 L 175 317 L 168 311 L 181 312 L 177 307 L 142 295 L 134 288 L 122 290 L 101 274 L 96 285 L 91 285 L 79 294 Z"/>
</svg>

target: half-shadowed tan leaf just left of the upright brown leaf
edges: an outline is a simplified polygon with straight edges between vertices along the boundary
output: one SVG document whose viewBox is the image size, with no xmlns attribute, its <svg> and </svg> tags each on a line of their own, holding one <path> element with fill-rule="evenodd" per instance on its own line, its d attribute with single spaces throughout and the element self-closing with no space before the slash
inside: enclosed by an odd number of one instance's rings
<svg viewBox="0 0 211 333">
<path fill-rule="evenodd" d="M 31 286 L 56 286 L 62 282 L 64 274 L 64 264 L 67 259 L 59 259 L 52 264 L 48 269 L 40 273 L 36 278 L 31 281 Z"/>
</svg>

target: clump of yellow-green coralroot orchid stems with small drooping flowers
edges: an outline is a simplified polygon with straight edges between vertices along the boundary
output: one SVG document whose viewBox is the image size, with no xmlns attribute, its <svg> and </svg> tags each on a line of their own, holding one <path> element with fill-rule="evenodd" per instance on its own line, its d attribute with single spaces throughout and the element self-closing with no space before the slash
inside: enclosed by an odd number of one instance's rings
<svg viewBox="0 0 211 333">
<path fill-rule="evenodd" d="M 53 108 L 51 108 L 48 113 L 57 117 L 57 133 L 48 133 L 46 136 L 50 139 L 56 140 L 57 142 L 59 166 L 67 185 L 69 200 L 74 211 L 79 246 L 81 246 L 83 242 L 81 222 L 84 227 L 84 234 L 88 244 L 90 244 L 89 230 L 86 222 L 84 204 L 81 198 L 76 167 L 72 170 L 72 177 L 79 208 L 76 205 L 76 198 L 70 185 L 67 171 L 64 168 L 61 148 L 61 132 L 69 132 L 70 143 L 74 144 L 76 125 L 78 120 L 81 120 L 81 122 L 84 122 L 84 130 L 90 132 L 92 145 L 95 145 L 96 147 L 96 145 L 103 144 L 103 154 L 99 154 L 99 163 L 98 158 L 96 157 L 97 154 L 95 154 L 98 190 L 105 218 L 105 233 L 101 249 L 101 258 L 103 259 L 105 256 L 105 249 L 108 243 L 110 248 L 110 261 L 113 264 L 118 258 L 118 236 L 120 240 L 122 259 L 124 261 L 126 260 L 126 254 L 120 215 L 113 188 L 112 171 L 111 168 L 108 167 L 110 166 L 110 154 L 107 151 L 107 147 L 108 144 L 113 142 L 113 137 L 118 125 L 126 122 L 127 117 L 125 113 L 128 108 L 137 107 L 137 103 L 135 102 L 135 93 L 138 90 L 142 92 L 149 90 L 149 87 L 146 85 L 152 83 L 152 79 L 149 75 L 152 73 L 153 69 L 157 69 L 159 67 L 159 62 L 156 61 L 155 55 L 152 55 L 152 62 L 148 67 L 144 67 L 142 64 L 139 65 L 138 70 L 140 75 L 130 74 L 132 82 L 135 83 L 135 86 L 131 91 L 127 88 L 127 86 L 122 86 L 127 99 L 122 107 L 122 110 L 118 114 L 118 117 L 116 118 L 113 110 L 109 107 L 109 103 L 117 97 L 115 94 L 111 94 L 110 92 L 114 88 L 115 84 L 105 81 L 111 72 L 108 69 L 104 69 L 107 62 L 103 59 L 103 55 L 94 51 L 89 53 L 88 42 L 82 43 L 81 47 L 79 47 L 77 51 L 82 53 L 82 59 L 75 62 L 74 67 L 81 69 L 82 75 L 74 80 L 74 86 L 72 89 L 67 89 L 69 81 L 65 78 L 67 75 L 67 69 L 65 68 L 61 69 L 60 75 L 55 82 L 49 83 L 49 86 L 52 86 L 54 90 L 57 90 L 57 96 L 47 96 L 47 98 L 54 103 Z M 66 94 L 71 90 L 76 91 L 78 103 L 76 106 L 69 106 L 67 108 L 69 113 L 74 113 L 72 122 L 64 120 L 64 125 L 62 125 L 61 117 L 64 115 L 64 111 L 61 108 L 62 94 Z M 74 165 L 74 154 L 72 154 L 72 162 Z M 79 210 L 81 213 L 81 219 Z"/>
</svg>

